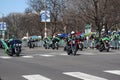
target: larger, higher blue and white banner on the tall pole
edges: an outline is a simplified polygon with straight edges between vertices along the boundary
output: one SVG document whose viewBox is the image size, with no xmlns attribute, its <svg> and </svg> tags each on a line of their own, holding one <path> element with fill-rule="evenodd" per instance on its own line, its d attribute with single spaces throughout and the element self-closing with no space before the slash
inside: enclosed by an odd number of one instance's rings
<svg viewBox="0 0 120 80">
<path fill-rule="evenodd" d="M 50 22 L 50 11 L 41 10 L 40 17 L 41 17 L 41 22 Z"/>
</svg>

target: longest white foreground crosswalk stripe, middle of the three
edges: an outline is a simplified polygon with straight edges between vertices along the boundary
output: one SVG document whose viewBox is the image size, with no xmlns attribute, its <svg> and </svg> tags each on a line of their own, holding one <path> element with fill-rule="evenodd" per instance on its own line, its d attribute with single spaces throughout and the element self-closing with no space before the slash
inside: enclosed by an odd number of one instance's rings
<svg viewBox="0 0 120 80">
<path fill-rule="evenodd" d="M 64 72 L 63 74 L 66 74 L 66 75 L 69 75 L 72 77 L 76 77 L 79 79 L 83 79 L 83 80 L 108 80 L 105 78 L 97 77 L 97 76 L 82 73 L 82 72 Z"/>
</svg>

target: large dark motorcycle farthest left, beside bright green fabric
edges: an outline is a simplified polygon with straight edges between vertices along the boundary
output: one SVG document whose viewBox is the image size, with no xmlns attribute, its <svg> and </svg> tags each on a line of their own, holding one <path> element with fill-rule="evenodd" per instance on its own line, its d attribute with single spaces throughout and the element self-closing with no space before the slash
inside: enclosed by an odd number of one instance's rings
<svg viewBox="0 0 120 80">
<path fill-rule="evenodd" d="M 7 50 L 7 54 L 9 56 L 19 56 L 21 53 L 21 44 L 22 42 L 20 40 L 12 40 L 10 42 L 8 42 L 8 50 Z"/>
</svg>

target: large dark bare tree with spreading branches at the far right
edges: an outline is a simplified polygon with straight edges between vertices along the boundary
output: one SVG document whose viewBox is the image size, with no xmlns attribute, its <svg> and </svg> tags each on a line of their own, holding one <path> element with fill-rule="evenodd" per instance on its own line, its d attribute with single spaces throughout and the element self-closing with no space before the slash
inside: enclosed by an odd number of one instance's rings
<svg viewBox="0 0 120 80">
<path fill-rule="evenodd" d="M 111 4 L 113 2 L 116 3 L 116 5 Z M 116 22 L 114 21 L 114 13 L 119 13 L 119 9 L 117 8 L 118 11 L 115 9 L 118 6 L 118 3 L 119 1 L 116 0 L 81 0 L 78 9 L 80 11 L 81 18 L 86 22 L 92 23 L 99 34 L 101 33 L 103 26 L 105 26 L 107 33 L 111 27 L 110 23 L 112 22 L 113 24 Z M 118 16 L 119 15 L 117 15 L 117 17 Z M 119 18 L 117 18 L 117 21 L 118 19 Z"/>
</svg>

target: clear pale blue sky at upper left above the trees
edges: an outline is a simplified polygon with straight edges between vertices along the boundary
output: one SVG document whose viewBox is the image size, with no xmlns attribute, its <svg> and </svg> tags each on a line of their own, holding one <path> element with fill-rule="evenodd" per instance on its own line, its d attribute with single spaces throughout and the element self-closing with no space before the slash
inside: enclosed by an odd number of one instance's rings
<svg viewBox="0 0 120 80">
<path fill-rule="evenodd" d="M 24 13 L 27 7 L 27 0 L 0 0 L 0 18 L 14 12 Z"/>
</svg>

